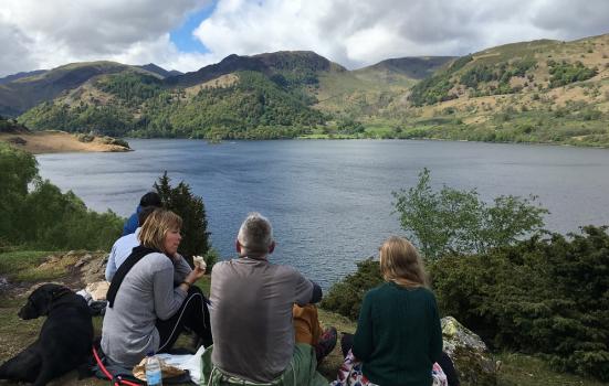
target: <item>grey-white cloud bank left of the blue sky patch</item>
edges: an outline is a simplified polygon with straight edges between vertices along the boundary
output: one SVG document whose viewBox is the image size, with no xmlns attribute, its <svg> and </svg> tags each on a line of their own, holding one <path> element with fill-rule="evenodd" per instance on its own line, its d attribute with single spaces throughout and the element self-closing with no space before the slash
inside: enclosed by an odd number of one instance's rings
<svg viewBox="0 0 609 386">
<path fill-rule="evenodd" d="M 0 9 L 0 76 L 70 62 L 111 60 L 197 69 L 204 57 L 169 41 L 190 12 L 211 0 L 4 0 Z M 14 43 L 17 42 L 17 44 Z M 197 58 L 197 56 L 201 56 Z"/>
</svg>

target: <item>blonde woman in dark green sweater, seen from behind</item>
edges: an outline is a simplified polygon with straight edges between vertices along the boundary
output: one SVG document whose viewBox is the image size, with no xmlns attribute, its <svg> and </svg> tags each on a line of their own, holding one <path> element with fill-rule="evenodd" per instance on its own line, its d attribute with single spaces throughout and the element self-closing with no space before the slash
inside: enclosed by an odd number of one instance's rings
<svg viewBox="0 0 609 386">
<path fill-rule="evenodd" d="M 379 258 L 386 282 L 366 293 L 351 351 L 333 384 L 430 386 L 442 330 L 423 262 L 410 242 L 395 236 Z M 344 352 L 349 341 L 343 340 Z"/>
</svg>

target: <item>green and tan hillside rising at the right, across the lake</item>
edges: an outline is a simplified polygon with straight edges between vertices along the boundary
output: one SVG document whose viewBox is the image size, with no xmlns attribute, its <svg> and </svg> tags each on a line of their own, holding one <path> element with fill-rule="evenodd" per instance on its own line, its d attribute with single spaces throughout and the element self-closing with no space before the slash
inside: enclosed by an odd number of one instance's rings
<svg viewBox="0 0 609 386">
<path fill-rule="evenodd" d="M 399 138 L 609 146 L 609 35 L 460 57 L 384 115 Z"/>
</svg>

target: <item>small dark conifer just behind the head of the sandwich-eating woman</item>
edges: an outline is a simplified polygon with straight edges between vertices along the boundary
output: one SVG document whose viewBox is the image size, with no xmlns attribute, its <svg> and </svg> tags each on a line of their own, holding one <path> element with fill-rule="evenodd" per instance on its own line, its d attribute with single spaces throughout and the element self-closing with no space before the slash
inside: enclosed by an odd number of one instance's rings
<svg viewBox="0 0 609 386">
<path fill-rule="evenodd" d="M 182 235 L 178 251 L 192 262 L 195 255 L 208 255 L 210 250 L 208 223 L 203 200 L 190 191 L 181 181 L 171 187 L 167 171 L 155 182 L 155 190 L 160 195 L 164 206 L 182 217 Z"/>
</svg>

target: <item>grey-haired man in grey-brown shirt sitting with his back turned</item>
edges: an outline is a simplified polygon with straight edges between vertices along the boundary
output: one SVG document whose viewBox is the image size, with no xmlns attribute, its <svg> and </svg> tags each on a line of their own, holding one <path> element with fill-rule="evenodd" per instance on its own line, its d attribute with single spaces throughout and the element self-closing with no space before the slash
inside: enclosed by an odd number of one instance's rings
<svg viewBox="0 0 609 386">
<path fill-rule="evenodd" d="M 235 248 L 239 258 L 211 274 L 216 344 L 203 358 L 206 385 L 327 385 L 316 367 L 334 349 L 336 329 L 319 326 L 312 305 L 322 300 L 319 286 L 267 260 L 275 240 L 260 213 L 241 224 Z"/>
</svg>

